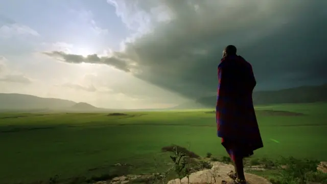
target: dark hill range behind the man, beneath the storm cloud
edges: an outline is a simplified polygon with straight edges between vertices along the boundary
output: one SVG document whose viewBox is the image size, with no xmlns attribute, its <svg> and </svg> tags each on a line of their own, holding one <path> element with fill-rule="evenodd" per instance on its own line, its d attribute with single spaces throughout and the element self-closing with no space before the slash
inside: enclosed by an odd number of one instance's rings
<svg viewBox="0 0 327 184">
<path fill-rule="evenodd" d="M 217 96 L 203 97 L 188 104 L 181 104 L 175 107 L 178 109 L 214 107 Z M 284 104 L 284 103 L 313 103 L 327 102 L 327 84 L 319 86 L 301 86 L 274 91 L 253 92 L 254 105 Z M 201 104 L 201 105 L 196 105 Z"/>
</svg>

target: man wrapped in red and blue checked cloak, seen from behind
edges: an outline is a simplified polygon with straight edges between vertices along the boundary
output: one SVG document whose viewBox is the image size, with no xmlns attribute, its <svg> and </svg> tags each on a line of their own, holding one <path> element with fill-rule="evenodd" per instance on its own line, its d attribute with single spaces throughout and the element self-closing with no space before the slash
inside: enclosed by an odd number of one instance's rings
<svg viewBox="0 0 327 184">
<path fill-rule="evenodd" d="M 256 85 L 252 66 L 236 52 L 235 46 L 228 45 L 218 65 L 216 122 L 217 134 L 235 166 L 228 176 L 232 183 L 243 184 L 243 158 L 262 148 L 263 142 L 252 102 Z"/>
</svg>

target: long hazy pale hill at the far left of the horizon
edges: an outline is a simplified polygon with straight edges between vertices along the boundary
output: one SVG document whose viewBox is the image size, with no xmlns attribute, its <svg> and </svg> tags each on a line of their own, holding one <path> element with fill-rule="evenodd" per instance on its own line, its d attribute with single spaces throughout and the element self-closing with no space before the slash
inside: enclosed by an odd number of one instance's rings
<svg viewBox="0 0 327 184">
<path fill-rule="evenodd" d="M 76 102 L 55 98 L 41 98 L 24 94 L 0 94 L 0 110 L 25 109 L 64 109 L 72 107 Z"/>
</svg>

